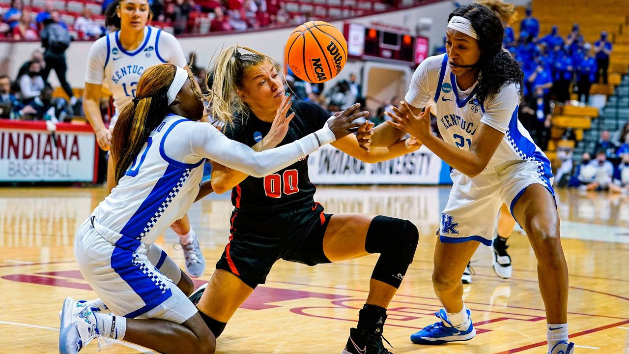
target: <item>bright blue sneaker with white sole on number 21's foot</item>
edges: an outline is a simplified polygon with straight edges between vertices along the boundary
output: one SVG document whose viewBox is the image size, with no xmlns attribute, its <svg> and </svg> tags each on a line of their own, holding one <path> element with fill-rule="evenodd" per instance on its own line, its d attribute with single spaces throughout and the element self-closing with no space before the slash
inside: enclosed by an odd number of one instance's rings
<svg viewBox="0 0 629 354">
<path fill-rule="evenodd" d="M 476 329 L 472 324 L 472 318 L 470 317 L 470 311 L 467 310 L 467 317 L 469 318 L 469 326 L 465 331 L 461 331 L 459 327 L 452 326 L 452 323 L 448 321 L 448 315 L 444 309 L 440 309 L 439 312 L 435 312 L 435 316 L 441 321 L 424 327 L 421 331 L 411 334 L 411 341 L 415 344 L 425 345 L 437 345 L 448 343 L 451 341 L 469 341 L 476 336 Z"/>
</svg>

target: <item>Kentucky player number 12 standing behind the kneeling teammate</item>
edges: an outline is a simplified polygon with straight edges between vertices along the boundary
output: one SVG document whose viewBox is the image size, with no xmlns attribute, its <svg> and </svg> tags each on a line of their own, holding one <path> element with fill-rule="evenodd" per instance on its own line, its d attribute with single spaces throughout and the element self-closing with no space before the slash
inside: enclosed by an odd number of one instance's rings
<svg viewBox="0 0 629 354">
<path fill-rule="evenodd" d="M 187 67 L 186 57 L 175 37 L 158 28 L 147 26 L 150 17 L 148 0 L 116 0 L 109 6 L 116 11 L 113 18 L 108 18 L 108 22 L 120 30 L 109 33 L 92 45 L 87 57 L 83 100 L 87 120 L 94 128 L 98 144 L 103 150 L 109 150 L 109 140 L 118 120 L 118 112 L 135 97 L 137 89 L 135 86 L 143 71 L 164 62 Z M 104 126 L 101 118 L 100 100 L 103 85 L 113 94 L 116 108 L 109 128 Z M 107 166 L 109 191 L 115 186 L 113 171 L 114 161 L 109 159 Z M 178 220 L 172 229 L 179 236 L 187 273 L 193 278 L 201 277 L 206 263 L 187 215 Z"/>
</svg>

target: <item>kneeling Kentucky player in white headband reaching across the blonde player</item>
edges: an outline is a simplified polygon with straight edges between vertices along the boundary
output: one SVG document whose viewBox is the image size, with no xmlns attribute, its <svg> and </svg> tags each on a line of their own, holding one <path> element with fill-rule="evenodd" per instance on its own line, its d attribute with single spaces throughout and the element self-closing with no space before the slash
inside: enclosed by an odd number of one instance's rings
<svg viewBox="0 0 629 354">
<path fill-rule="evenodd" d="M 352 123 L 360 115 L 346 110 L 291 144 L 255 152 L 209 123 L 195 122 L 204 107 L 189 71 L 160 64 L 134 86 L 137 96 L 121 111 L 111 143 L 118 185 L 74 241 L 81 274 L 113 315 L 65 299 L 59 352 L 77 353 L 104 336 L 160 353 L 214 353 L 214 336 L 197 309 L 169 274 L 148 260 L 153 242 L 199 194 L 204 159 L 262 177 L 342 139 L 360 125 Z M 287 105 L 282 108 L 278 125 L 285 126 L 291 117 Z"/>
</svg>

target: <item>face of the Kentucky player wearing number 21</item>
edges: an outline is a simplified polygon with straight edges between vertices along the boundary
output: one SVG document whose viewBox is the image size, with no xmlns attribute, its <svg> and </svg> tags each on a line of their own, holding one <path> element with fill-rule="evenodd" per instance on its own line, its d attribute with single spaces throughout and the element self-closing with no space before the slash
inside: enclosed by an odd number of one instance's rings
<svg viewBox="0 0 629 354">
<path fill-rule="evenodd" d="M 481 59 L 481 48 L 478 45 L 478 40 L 452 28 L 448 28 L 445 32 L 445 50 L 448 53 L 450 70 L 456 76 L 468 74 L 475 70 L 460 66 L 474 65 Z"/>
</svg>

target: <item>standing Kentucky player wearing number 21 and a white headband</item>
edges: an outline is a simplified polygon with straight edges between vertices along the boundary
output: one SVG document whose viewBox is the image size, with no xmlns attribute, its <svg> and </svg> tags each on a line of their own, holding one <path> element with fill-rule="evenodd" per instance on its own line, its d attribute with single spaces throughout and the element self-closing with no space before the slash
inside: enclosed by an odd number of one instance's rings
<svg viewBox="0 0 629 354">
<path fill-rule="evenodd" d="M 395 108 L 387 122 L 417 137 L 454 168 L 432 277 L 445 309 L 436 314 L 439 322 L 413 334 L 411 341 L 435 345 L 474 337 L 460 277 L 478 245 L 491 246 L 494 220 L 506 203 L 537 256 L 548 353 L 573 353 L 567 325 L 568 271 L 550 163 L 518 121 L 523 73 L 501 49 L 503 26 L 491 10 L 468 4 L 455 9 L 448 21 L 447 53 L 420 64 L 401 108 Z M 444 140 L 431 134 L 430 106 L 420 115 L 431 97 Z M 391 132 L 377 128 L 372 144 L 386 144 L 403 134 Z M 369 146 L 368 140 L 359 140 Z"/>
</svg>

